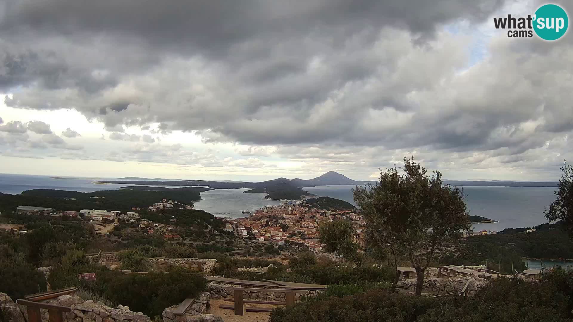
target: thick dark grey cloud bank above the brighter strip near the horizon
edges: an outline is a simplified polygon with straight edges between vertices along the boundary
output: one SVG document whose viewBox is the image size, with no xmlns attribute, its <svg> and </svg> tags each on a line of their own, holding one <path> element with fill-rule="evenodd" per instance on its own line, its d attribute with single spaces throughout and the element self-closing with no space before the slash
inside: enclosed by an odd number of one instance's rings
<svg viewBox="0 0 573 322">
<path fill-rule="evenodd" d="M 0 89 L 21 87 L 5 103 L 77 109 L 108 131 L 159 123 L 152 133 L 205 142 L 323 146 L 301 159 L 329 166 L 367 147 L 533 158 L 573 129 L 573 37 L 496 40 L 461 73 L 471 40 L 444 24 L 477 26 L 503 1 L 5 3 Z M 240 154 L 269 155 L 256 149 Z"/>
</svg>

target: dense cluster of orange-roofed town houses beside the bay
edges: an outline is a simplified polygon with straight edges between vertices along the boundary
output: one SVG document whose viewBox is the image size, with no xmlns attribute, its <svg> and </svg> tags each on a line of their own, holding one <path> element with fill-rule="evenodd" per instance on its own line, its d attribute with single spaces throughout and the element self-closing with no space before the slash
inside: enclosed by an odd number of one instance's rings
<svg viewBox="0 0 573 322">
<path fill-rule="evenodd" d="M 305 203 L 280 206 L 266 206 L 246 218 L 227 223 L 225 230 L 236 231 L 242 238 L 269 241 L 277 245 L 301 244 L 320 252 L 323 245 L 318 241 L 318 227 L 321 222 L 348 219 L 355 225 L 354 237 L 361 242 L 364 234 L 364 220 L 352 210 L 327 211 L 314 209 Z"/>
</svg>

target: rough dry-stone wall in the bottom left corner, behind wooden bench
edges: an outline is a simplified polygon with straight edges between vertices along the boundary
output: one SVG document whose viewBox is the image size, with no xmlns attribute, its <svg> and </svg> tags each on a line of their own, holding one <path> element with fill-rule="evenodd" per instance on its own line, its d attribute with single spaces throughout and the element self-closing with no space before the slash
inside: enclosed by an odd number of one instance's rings
<svg viewBox="0 0 573 322">
<path fill-rule="evenodd" d="M 3 293 L 0 293 L 0 298 L 2 298 Z M 6 294 L 3 294 L 6 295 Z M 7 296 L 6 296 L 7 297 Z M 8 299 L 10 299 L 8 297 Z M 64 321 L 67 322 L 148 322 L 151 319 L 141 312 L 132 312 L 129 307 L 124 307 L 123 305 L 117 305 L 117 308 L 107 307 L 101 302 L 95 303 L 92 300 L 84 301 L 77 295 L 62 295 L 57 297 L 57 299 L 45 300 L 43 303 L 61 305 L 64 307 L 69 307 L 72 312 L 63 313 Z M 12 322 L 25 322 L 28 321 L 28 312 L 26 307 L 23 305 L 18 305 L 12 303 L 11 300 L 7 301 L 9 303 L 9 320 Z M 42 315 L 42 322 L 48 322 L 48 310 L 40 309 Z"/>
</svg>

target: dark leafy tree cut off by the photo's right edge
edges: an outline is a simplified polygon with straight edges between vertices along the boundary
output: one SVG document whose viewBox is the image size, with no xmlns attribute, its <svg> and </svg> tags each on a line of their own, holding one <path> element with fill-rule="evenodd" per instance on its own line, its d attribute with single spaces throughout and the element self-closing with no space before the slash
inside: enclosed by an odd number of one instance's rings
<svg viewBox="0 0 573 322">
<path fill-rule="evenodd" d="M 557 196 L 549 208 L 545 209 L 545 218 L 548 221 L 563 220 L 570 234 L 573 234 L 573 166 L 564 162 L 559 168 L 563 175 L 559 179 Z"/>
</svg>

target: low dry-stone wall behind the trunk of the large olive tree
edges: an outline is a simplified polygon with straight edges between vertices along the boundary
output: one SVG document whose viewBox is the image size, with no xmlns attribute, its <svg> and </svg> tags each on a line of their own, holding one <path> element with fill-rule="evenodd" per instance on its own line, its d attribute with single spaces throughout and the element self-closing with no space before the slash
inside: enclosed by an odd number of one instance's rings
<svg viewBox="0 0 573 322">
<path fill-rule="evenodd" d="M 473 294 L 476 293 L 477 289 L 489 283 L 488 280 L 476 277 L 458 277 L 458 278 L 429 277 L 429 278 L 424 278 L 424 282 L 422 284 L 422 292 L 435 293 L 435 294 L 448 294 L 448 293 L 460 292 L 464 288 L 468 280 L 470 281 L 468 285 L 469 296 L 473 296 Z M 416 279 L 408 278 L 407 280 L 399 281 L 397 287 L 405 289 L 408 292 L 415 292 Z"/>
</svg>

